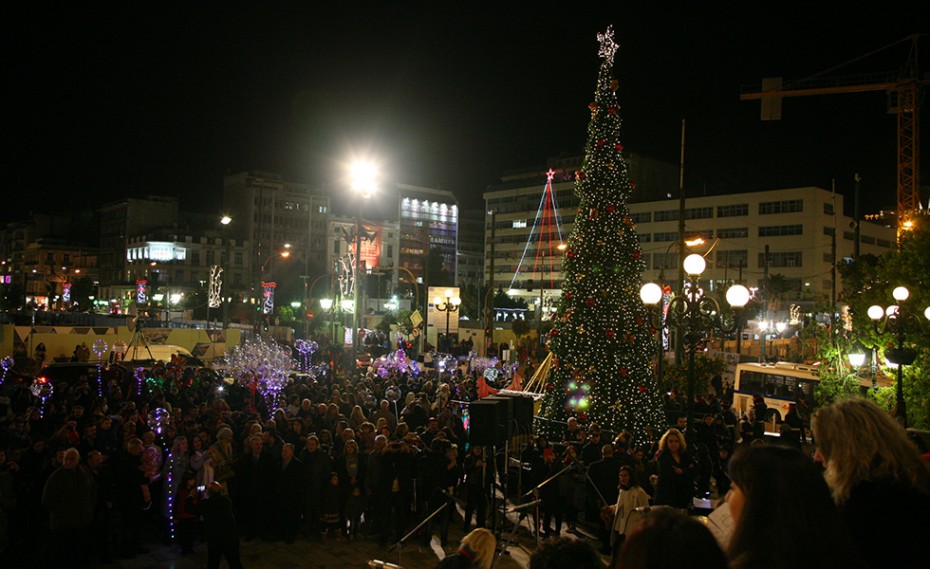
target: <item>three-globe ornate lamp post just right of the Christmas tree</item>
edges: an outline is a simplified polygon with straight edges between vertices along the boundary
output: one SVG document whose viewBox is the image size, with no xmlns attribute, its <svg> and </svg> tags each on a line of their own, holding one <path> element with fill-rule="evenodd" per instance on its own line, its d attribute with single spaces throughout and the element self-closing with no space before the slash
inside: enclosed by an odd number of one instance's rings
<svg viewBox="0 0 930 569">
<path fill-rule="evenodd" d="M 640 298 L 650 307 L 653 315 L 653 325 L 661 335 L 662 327 L 668 324 L 678 330 L 679 337 L 684 341 L 684 348 L 688 354 L 688 431 L 692 431 L 694 422 L 694 360 L 698 344 L 710 330 L 720 330 L 729 334 L 739 329 L 742 309 L 749 302 L 749 289 L 743 285 L 733 285 L 727 289 L 727 303 L 732 308 L 732 317 L 725 318 L 720 312 L 717 301 L 704 294 L 701 288 L 701 274 L 707 266 L 704 257 L 697 253 L 688 255 L 682 267 L 688 275 L 688 280 L 682 286 L 681 294 L 676 295 L 669 303 L 668 316 L 665 321 L 661 312 L 655 310 L 662 299 L 662 287 L 656 283 L 646 283 L 640 289 Z M 661 350 L 661 343 L 660 348 Z M 662 359 L 660 353 L 659 359 Z"/>
</svg>

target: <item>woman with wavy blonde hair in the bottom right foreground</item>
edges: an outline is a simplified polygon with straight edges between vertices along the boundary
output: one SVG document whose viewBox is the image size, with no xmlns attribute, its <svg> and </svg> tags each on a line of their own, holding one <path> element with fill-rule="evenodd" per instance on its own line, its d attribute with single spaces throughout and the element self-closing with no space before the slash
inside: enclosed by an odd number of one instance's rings
<svg viewBox="0 0 930 569">
<path fill-rule="evenodd" d="M 930 470 L 901 425 L 854 397 L 818 409 L 811 428 L 814 459 L 866 563 L 926 567 Z"/>
</svg>

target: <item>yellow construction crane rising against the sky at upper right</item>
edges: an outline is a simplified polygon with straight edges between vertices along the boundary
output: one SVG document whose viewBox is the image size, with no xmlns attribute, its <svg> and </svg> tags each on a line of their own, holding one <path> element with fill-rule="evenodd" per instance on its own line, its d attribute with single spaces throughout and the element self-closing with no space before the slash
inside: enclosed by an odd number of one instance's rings
<svg viewBox="0 0 930 569">
<path fill-rule="evenodd" d="M 897 236 L 913 229 L 920 210 L 919 149 L 920 149 L 920 88 L 930 80 L 920 76 L 917 43 L 920 34 L 914 34 L 885 47 L 871 51 L 846 63 L 837 65 L 805 79 L 782 82 L 781 77 L 762 80 L 762 85 L 741 89 L 741 101 L 762 101 L 762 120 L 781 119 L 781 100 L 784 97 L 834 95 L 885 91 L 888 93 L 888 113 L 898 119 L 898 204 Z M 895 46 L 910 42 L 907 58 L 900 71 L 829 77 L 834 71 L 852 63 L 872 57 Z"/>
</svg>

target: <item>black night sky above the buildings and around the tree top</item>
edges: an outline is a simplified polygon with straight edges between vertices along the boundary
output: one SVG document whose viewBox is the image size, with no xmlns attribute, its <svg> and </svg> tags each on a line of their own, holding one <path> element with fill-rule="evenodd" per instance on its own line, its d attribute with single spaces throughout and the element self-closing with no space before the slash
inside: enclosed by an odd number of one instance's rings
<svg viewBox="0 0 930 569">
<path fill-rule="evenodd" d="M 677 164 L 686 119 L 689 195 L 832 180 L 851 195 L 860 172 L 867 207 L 893 205 L 884 93 L 789 99 L 782 121 L 763 123 L 740 87 L 827 70 L 926 22 L 918 1 L 888 14 L 780 2 L 126 4 L 7 20 L 0 220 L 151 193 L 217 212 L 227 173 L 338 187 L 365 155 L 387 180 L 477 207 L 505 170 L 581 152 L 608 24 L 623 144 Z M 833 75 L 896 70 L 904 47 Z"/>
</svg>

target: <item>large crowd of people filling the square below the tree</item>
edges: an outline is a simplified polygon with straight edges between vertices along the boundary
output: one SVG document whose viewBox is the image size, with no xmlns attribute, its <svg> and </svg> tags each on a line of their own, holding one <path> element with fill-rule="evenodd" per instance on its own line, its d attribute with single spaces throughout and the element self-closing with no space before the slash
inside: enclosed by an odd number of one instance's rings
<svg viewBox="0 0 930 569">
<path fill-rule="evenodd" d="M 10 399 L 0 555 L 42 552 L 47 566 L 81 566 L 89 555 L 144 553 L 157 538 L 181 554 L 204 541 L 210 567 L 222 556 L 239 567 L 240 536 L 386 547 L 434 512 L 414 539 L 438 534 L 448 546 L 458 519 L 477 540 L 462 555 L 486 548 L 485 532 L 472 530 L 493 525 L 491 477 L 508 478 L 509 461 L 496 465 L 499 456 L 468 444 L 464 410 L 478 381 L 467 370 L 295 375 L 274 400 L 207 368 L 167 371 L 144 384 L 84 377 L 41 405 Z M 561 436 L 524 440 L 514 490 L 536 494 L 535 528 L 558 537 L 564 525 L 615 567 L 671 567 L 675 555 L 691 559 L 684 544 L 710 551 L 707 567 L 918 566 L 930 475 L 874 404 L 844 400 L 813 415 L 818 467 L 792 437 L 764 443 L 734 426 L 728 405 L 699 403 L 707 412 L 692 425 L 669 404 L 672 424 L 645 444 L 575 418 Z M 735 532 L 725 548 L 687 517 L 706 513 L 695 496 L 727 499 Z M 680 547 L 660 546 L 669 539 Z"/>
</svg>

